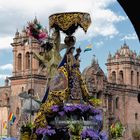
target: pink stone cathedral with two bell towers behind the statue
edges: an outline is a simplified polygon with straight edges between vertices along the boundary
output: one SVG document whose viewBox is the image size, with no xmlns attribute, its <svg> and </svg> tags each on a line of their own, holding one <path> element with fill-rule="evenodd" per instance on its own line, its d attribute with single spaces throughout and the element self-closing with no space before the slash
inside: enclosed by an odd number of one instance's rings
<svg viewBox="0 0 140 140">
<path fill-rule="evenodd" d="M 37 20 L 37 19 L 35 19 Z M 48 76 L 40 69 L 40 62 L 33 57 L 33 52 L 41 54 L 42 50 L 36 40 L 30 40 L 23 28 L 13 38 L 13 74 L 0 87 L 0 120 L 8 122 L 10 112 L 16 116 L 13 125 L 0 130 L 3 135 L 19 136 L 19 123 L 24 100 L 19 97 L 22 92 L 34 89 L 35 96 L 44 96 Z M 140 92 L 140 56 L 124 43 L 115 54 L 108 55 L 107 76 L 94 58 L 89 67 L 82 72 L 89 94 L 102 100 L 104 112 L 104 130 L 119 120 L 125 127 L 124 140 L 132 139 L 132 130 L 140 125 L 137 95 Z"/>
</svg>

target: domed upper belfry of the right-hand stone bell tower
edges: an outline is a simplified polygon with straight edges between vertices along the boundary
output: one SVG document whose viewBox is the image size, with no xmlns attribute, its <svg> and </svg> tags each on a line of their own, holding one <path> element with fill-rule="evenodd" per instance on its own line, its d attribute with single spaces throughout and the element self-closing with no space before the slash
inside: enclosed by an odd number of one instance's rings
<svg viewBox="0 0 140 140">
<path fill-rule="evenodd" d="M 140 57 L 126 43 L 114 55 L 109 54 L 106 65 L 110 83 L 140 88 Z"/>
</svg>

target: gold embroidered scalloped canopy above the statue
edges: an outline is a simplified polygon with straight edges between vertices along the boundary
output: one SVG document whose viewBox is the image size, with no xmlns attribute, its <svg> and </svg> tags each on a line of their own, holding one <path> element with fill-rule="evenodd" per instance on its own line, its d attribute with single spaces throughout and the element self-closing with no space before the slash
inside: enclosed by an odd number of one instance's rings
<svg viewBox="0 0 140 140">
<path fill-rule="evenodd" d="M 53 14 L 49 17 L 51 28 L 58 28 L 68 34 L 74 33 L 78 26 L 82 27 L 85 32 L 91 24 L 90 14 L 82 12 L 69 12 Z M 72 31 L 73 30 L 73 31 Z"/>
</svg>

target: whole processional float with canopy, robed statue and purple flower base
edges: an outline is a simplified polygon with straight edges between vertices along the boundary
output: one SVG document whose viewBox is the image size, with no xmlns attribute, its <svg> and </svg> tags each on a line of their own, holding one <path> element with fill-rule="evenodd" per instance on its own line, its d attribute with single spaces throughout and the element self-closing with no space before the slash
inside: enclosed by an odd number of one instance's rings
<svg viewBox="0 0 140 140">
<path fill-rule="evenodd" d="M 90 15 L 83 12 L 57 13 L 49 17 L 54 38 L 48 37 L 48 41 L 40 41 L 40 44 L 50 59 L 34 55 L 48 67 L 50 77 L 33 125 L 28 127 L 29 131 L 21 129 L 22 140 L 107 139 L 102 131 L 102 111 L 89 96 L 79 70 L 82 50 L 74 46 L 76 38 L 73 33 L 78 27 L 87 32 L 90 24 Z M 65 44 L 60 43 L 60 31 L 66 34 Z M 60 60 L 63 48 L 66 52 Z"/>
</svg>

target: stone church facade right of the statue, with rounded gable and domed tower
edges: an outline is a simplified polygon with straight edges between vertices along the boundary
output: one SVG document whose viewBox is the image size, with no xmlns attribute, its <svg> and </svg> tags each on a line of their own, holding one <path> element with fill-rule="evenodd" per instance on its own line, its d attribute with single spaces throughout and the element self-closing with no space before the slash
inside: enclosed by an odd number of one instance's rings
<svg viewBox="0 0 140 140">
<path fill-rule="evenodd" d="M 107 76 L 94 59 L 84 70 L 84 79 L 90 94 L 102 99 L 105 129 L 120 120 L 125 127 L 123 139 L 132 140 L 132 130 L 140 127 L 140 56 L 124 43 L 114 55 L 108 55 L 106 66 Z"/>
</svg>

